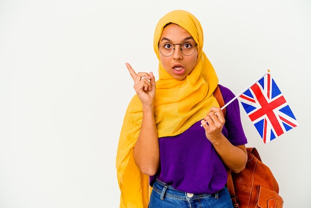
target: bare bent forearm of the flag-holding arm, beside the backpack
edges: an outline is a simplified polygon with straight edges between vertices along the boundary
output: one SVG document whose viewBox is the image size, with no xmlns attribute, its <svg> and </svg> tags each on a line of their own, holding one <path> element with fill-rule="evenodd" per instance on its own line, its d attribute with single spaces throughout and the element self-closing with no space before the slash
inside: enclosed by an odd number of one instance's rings
<svg viewBox="0 0 311 208">
<path fill-rule="evenodd" d="M 233 172 L 238 173 L 245 168 L 247 162 L 245 145 L 234 146 L 224 135 L 221 135 L 213 145 L 224 164 Z"/>
</svg>

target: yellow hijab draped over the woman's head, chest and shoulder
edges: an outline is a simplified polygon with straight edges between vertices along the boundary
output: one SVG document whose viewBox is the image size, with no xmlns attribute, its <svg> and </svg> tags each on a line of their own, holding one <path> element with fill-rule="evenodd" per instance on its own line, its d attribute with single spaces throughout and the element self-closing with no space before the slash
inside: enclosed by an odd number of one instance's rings
<svg viewBox="0 0 311 208">
<path fill-rule="evenodd" d="M 197 64 L 182 81 L 172 78 L 160 62 L 158 41 L 163 28 L 175 23 L 186 29 L 198 44 Z M 203 31 L 198 19 L 184 10 L 164 15 L 156 25 L 154 50 L 159 60 L 159 79 L 156 81 L 155 118 L 159 137 L 184 132 L 201 120 L 211 106 L 219 106 L 213 97 L 218 78 L 213 66 L 202 51 Z M 149 176 L 141 173 L 133 157 L 133 147 L 142 122 L 142 103 L 135 95 L 128 105 L 120 133 L 116 167 L 121 190 L 120 208 L 147 208 L 150 196 Z"/>
</svg>

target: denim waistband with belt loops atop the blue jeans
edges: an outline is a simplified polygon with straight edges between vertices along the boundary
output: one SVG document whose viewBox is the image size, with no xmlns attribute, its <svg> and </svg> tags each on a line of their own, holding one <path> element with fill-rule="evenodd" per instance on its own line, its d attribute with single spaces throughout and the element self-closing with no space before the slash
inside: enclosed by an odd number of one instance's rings
<svg viewBox="0 0 311 208">
<path fill-rule="evenodd" d="M 192 194 L 192 193 L 178 191 L 174 189 L 172 186 L 167 185 L 157 179 L 153 185 L 153 190 L 160 194 L 161 200 L 163 200 L 164 197 L 170 197 L 170 198 L 185 200 L 185 201 L 197 200 L 197 199 L 209 198 L 209 197 L 214 197 L 215 199 L 218 199 L 219 193 L 222 191 L 220 190 L 214 194 Z"/>
</svg>

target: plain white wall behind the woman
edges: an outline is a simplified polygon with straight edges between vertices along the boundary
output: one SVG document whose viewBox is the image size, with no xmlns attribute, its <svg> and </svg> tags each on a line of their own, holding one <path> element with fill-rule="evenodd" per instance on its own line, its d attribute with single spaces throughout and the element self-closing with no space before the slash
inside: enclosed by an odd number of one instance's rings
<svg viewBox="0 0 311 208">
<path fill-rule="evenodd" d="M 255 146 L 284 208 L 309 208 L 311 1 L 0 0 L 0 208 L 116 208 L 115 156 L 134 95 L 124 65 L 153 71 L 157 20 L 192 12 L 220 83 L 239 93 L 267 69 L 299 126 Z"/>
</svg>

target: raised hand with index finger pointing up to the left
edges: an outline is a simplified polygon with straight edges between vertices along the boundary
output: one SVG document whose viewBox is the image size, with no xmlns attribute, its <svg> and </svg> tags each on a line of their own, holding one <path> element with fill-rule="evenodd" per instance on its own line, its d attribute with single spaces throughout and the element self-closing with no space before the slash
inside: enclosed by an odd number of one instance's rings
<svg viewBox="0 0 311 208">
<path fill-rule="evenodd" d="M 125 63 L 133 80 L 134 89 L 143 105 L 153 106 L 156 96 L 156 80 L 154 74 L 150 72 L 139 72 L 136 74 L 129 63 Z"/>
</svg>

